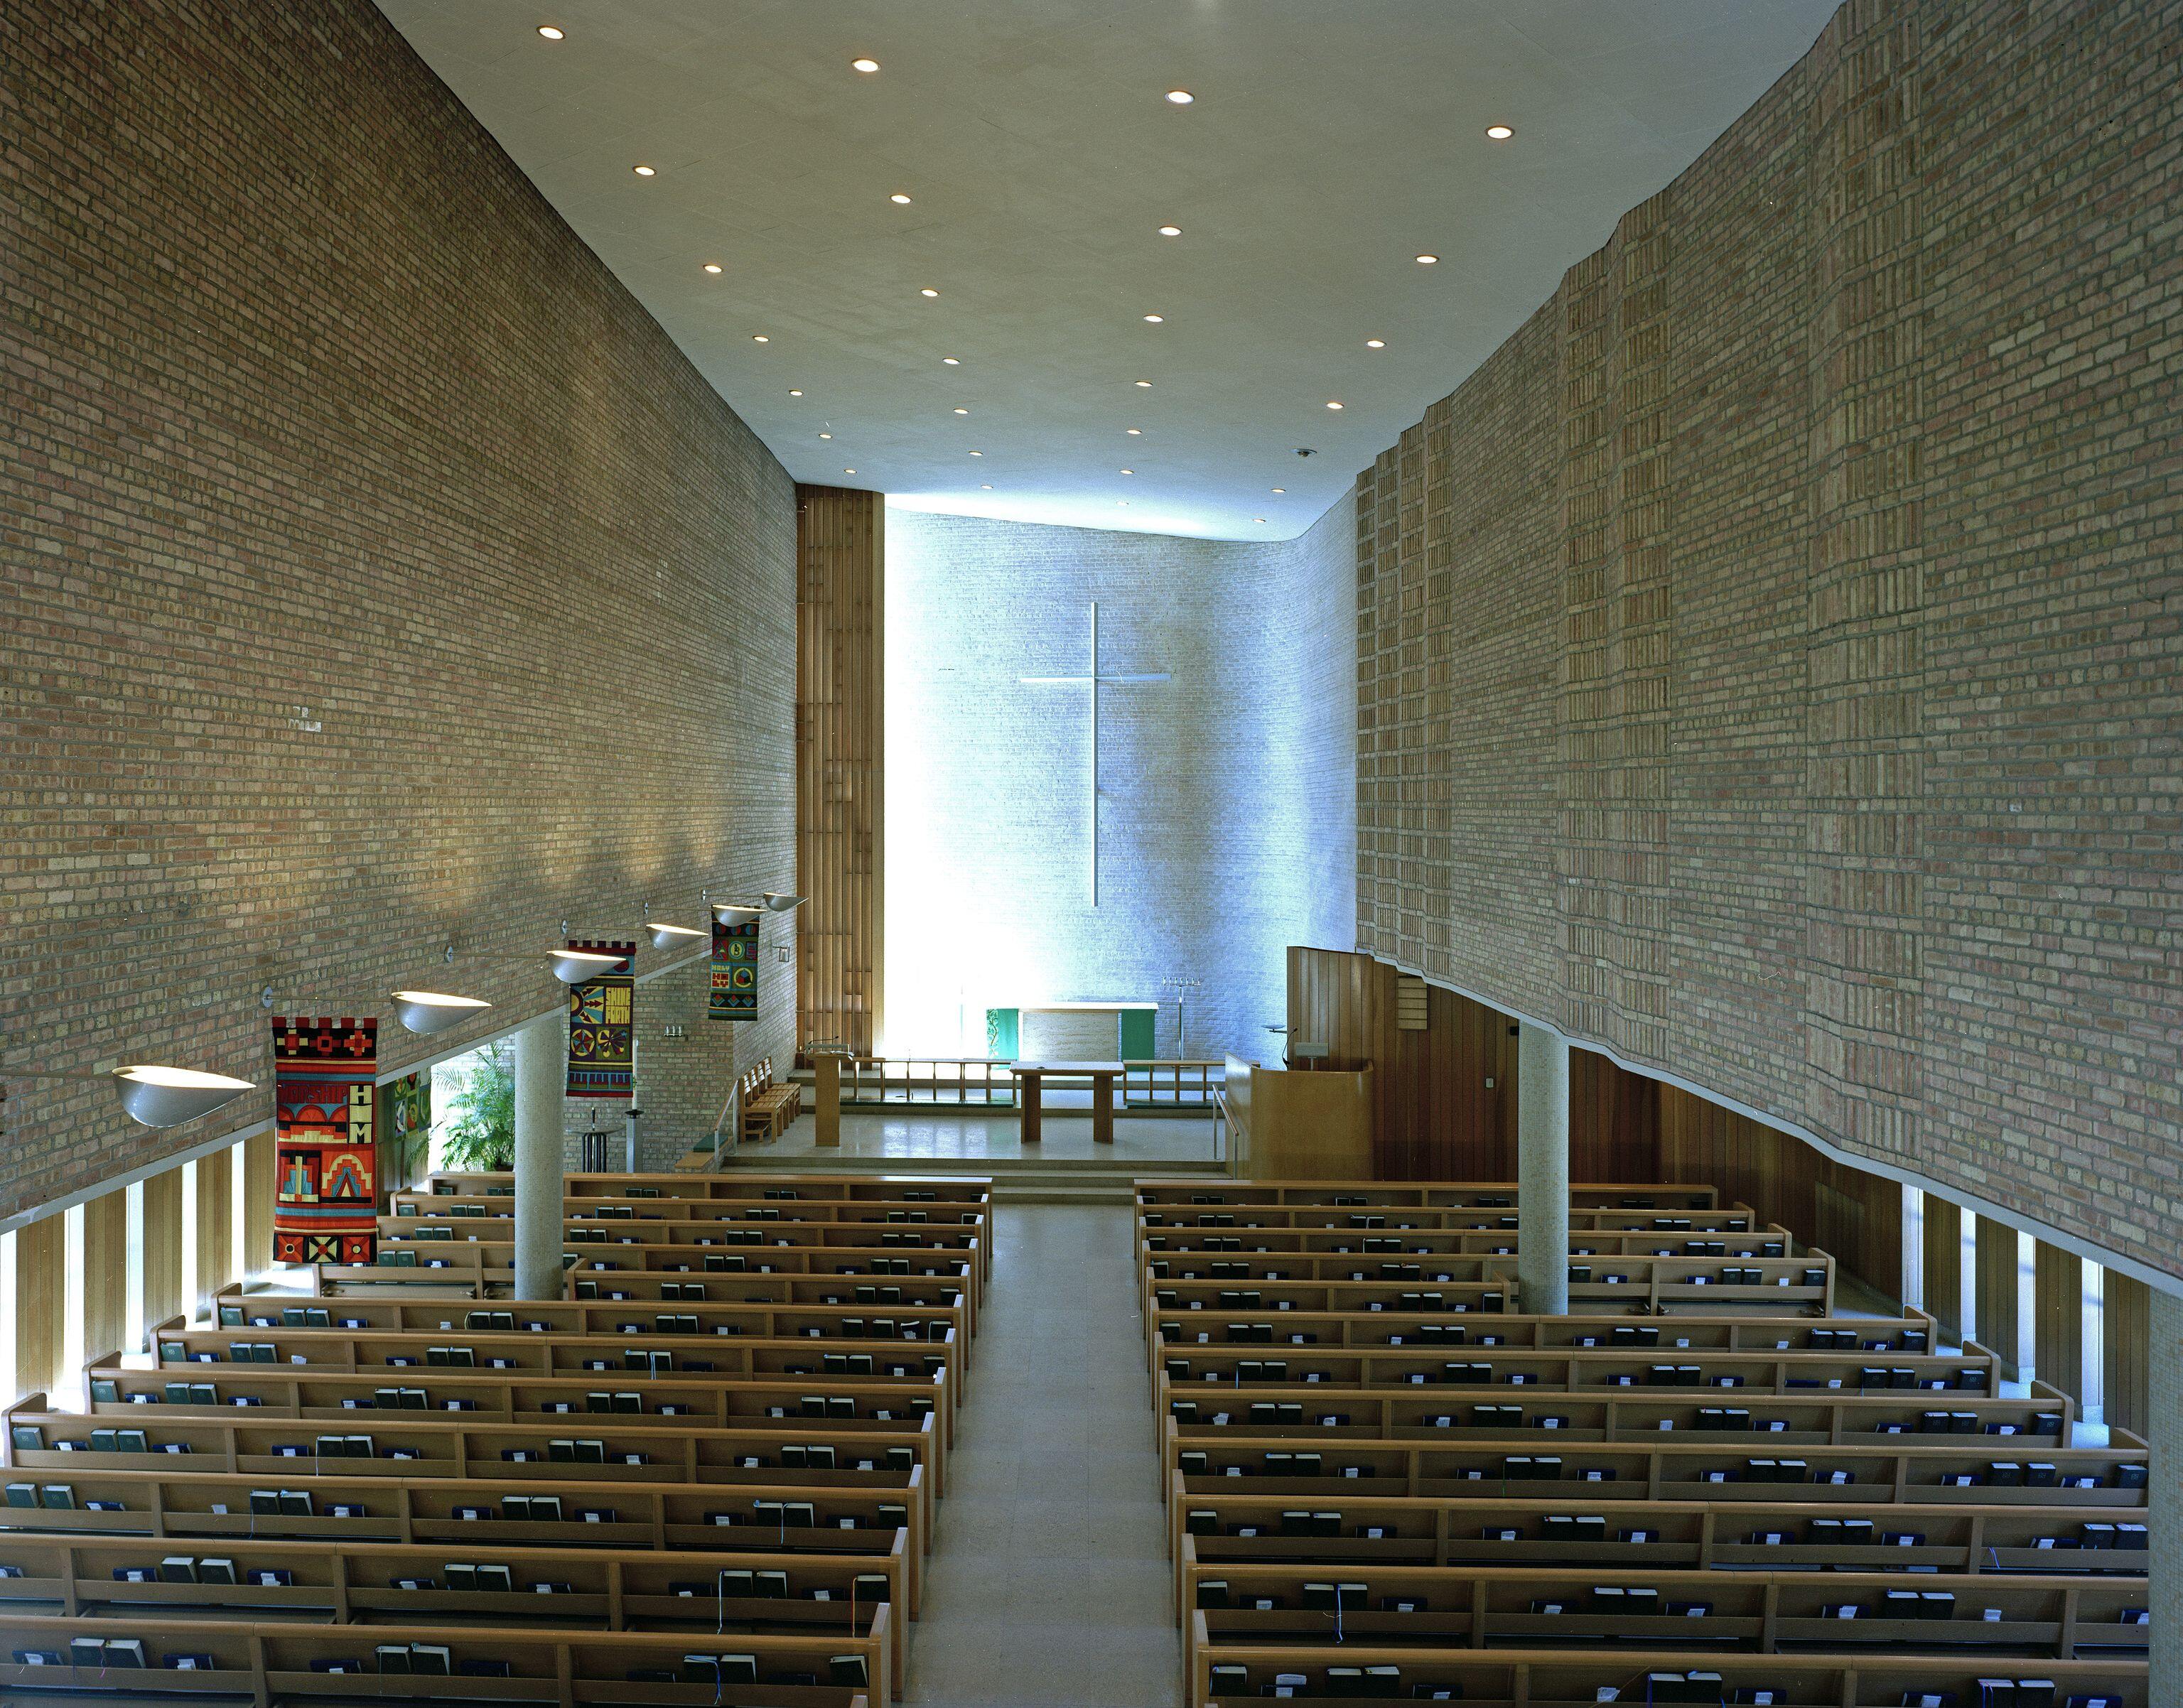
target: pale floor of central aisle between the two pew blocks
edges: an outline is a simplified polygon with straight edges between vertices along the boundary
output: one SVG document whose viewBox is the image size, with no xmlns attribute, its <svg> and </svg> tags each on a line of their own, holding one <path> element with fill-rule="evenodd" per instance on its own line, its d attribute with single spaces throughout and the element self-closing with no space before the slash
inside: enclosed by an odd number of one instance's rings
<svg viewBox="0 0 2183 1708">
<path fill-rule="evenodd" d="M 1120 1204 L 993 1208 L 993 1283 L 910 1638 L 921 1708 L 1181 1697 L 1131 1235 Z"/>
</svg>

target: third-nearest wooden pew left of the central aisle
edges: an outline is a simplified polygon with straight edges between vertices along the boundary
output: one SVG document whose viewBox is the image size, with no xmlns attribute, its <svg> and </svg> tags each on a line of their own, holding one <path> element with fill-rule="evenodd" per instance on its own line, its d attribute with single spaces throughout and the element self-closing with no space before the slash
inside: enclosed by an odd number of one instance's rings
<svg viewBox="0 0 2183 1708">
<path fill-rule="evenodd" d="M 919 1481 L 921 1472 L 912 1472 Z M 559 1516 L 554 1516 L 559 1512 Z M 578 1514 L 596 1514 L 583 1518 Z M 821 1555 L 902 1566 L 902 1603 L 917 1616 L 923 1505 L 912 1490 L 806 1483 L 554 1483 L 533 1499 L 465 1479 L 240 1477 L 164 1470 L 39 1470 L 7 1481 L 0 1531 L 26 1536 L 175 1538 L 199 1542 L 330 1540 L 448 1549 L 677 1549 Z"/>
</svg>

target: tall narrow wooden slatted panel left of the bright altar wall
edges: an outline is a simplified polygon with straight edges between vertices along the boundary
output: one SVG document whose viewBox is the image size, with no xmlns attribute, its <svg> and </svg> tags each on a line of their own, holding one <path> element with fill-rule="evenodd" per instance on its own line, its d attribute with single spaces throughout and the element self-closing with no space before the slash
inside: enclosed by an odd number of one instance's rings
<svg viewBox="0 0 2183 1708">
<path fill-rule="evenodd" d="M 878 1047 L 884 993 L 880 493 L 797 486 L 797 1045 Z"/>
</svg>

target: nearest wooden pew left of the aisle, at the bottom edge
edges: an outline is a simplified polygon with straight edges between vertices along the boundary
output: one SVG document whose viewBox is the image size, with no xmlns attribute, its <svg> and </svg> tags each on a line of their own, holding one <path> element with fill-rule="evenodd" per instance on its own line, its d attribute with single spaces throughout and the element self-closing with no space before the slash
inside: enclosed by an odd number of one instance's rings
<svg viewBox="0 0 2183 1708">
<path fill-rule="evenodd" d="M 869 1708 L 858 1684 L 779 1682 L 867 1673 L 878 1686 L 886 1610 L 864 1636 L 742 1636 L 705 1632 L 478 1632 L 463 1625 L 293 1625 L 279 1621 L 72 1621 L 0 1614 L 0 1691 L 74 1691 L 92 1699 L 192 1697 L 288 1701 L 378 1697 L 373 1673 L 397 1673 L 402 1697 L 550 1701 L 563 1708 L 648 1701 L 664 1708 Z M 94 1645 L 105 1645 L 94 1647 Z M 120 1647 L 114 1647 L 120 1645 Z M 131 1651 L 129 1645 L 138 1645 Z M 399 1653 L 399 1669 L 393 1664 Z M 61 1664 L 22 1664 L 20 1656 Z M 188 1667 L 177 1667 L 183 1658 Z M 424 1671 L 428 1686 L 413 1677 Z M 751 1682 L 742 1682 L 744 1673 Z M 369 1682 L 367 1682 L 369 1680 Z M 878 1691 L 873 1691 L 878 1695 Z"/>
</svg>

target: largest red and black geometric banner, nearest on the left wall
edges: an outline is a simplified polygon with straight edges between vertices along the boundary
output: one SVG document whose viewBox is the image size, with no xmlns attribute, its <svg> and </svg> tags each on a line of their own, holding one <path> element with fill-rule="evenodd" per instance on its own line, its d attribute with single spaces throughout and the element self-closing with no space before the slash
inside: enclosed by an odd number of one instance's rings
<svg viewBox="0 0 2183 1708">
<path fill-rule="evenodd" d="M 273 1261 L 371 1263 L 378 1021 L 273 1021 Z"/>
</svg>

